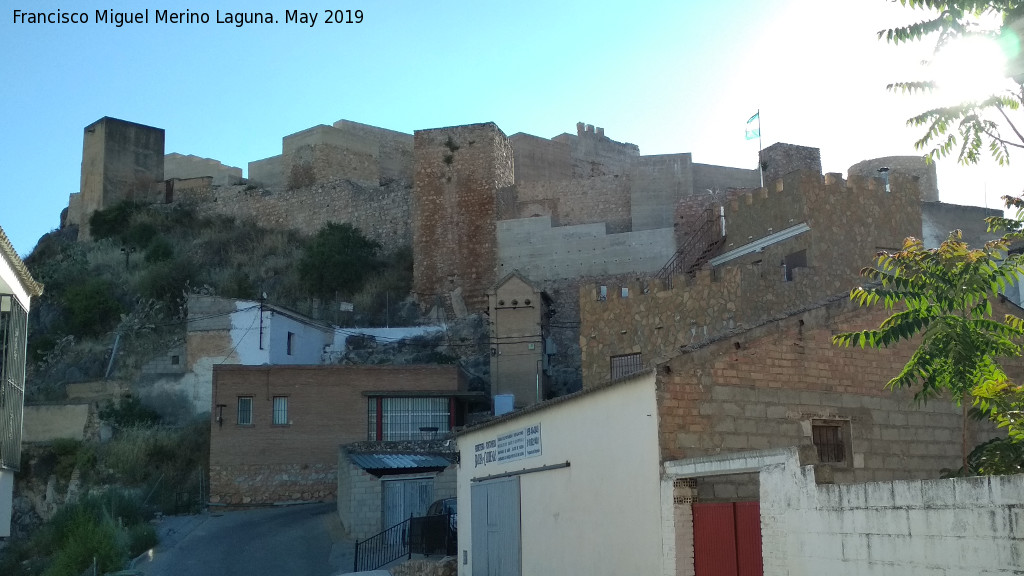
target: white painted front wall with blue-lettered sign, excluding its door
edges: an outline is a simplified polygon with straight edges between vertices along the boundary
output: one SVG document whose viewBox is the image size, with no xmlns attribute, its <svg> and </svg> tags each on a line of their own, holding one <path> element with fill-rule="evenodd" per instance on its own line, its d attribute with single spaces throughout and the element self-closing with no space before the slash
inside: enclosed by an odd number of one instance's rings
<svg viewBox="0 0 1024 576">
<path fill-rule="evenodd" d="M 477 445 L 536 425 L 540 454 L 477 464 Z M 471 576 L 474 553 L 484 553 L 471 538 L 471 487 L 521 470 L 523 575 L 662 572 L 653 373 L 536 405 L 470 428 L 458 442 L 460 576 Z"/>
</svg>

